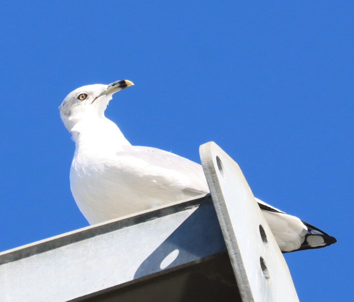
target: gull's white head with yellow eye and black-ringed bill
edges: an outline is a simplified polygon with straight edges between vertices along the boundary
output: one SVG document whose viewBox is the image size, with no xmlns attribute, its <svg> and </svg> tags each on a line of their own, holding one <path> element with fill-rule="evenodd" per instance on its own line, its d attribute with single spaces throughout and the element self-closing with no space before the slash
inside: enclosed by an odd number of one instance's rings
<svg viewBox="0 0 354 302">
<path fill-rule="evenodd" d="M 131 81 L 120 80 L 109 85 L 82 86 L 70 92 L 59 106 L 65 127 L 71 132 L 75 124 L 82 120 L 104 117 L 104 110 L 112 95 L 132 85 Z"/>
</svg>

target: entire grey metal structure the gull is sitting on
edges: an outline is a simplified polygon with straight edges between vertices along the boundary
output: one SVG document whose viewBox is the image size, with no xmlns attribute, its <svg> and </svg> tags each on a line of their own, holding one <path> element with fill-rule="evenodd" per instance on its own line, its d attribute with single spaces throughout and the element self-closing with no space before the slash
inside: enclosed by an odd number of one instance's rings
<svg viewBox="0 0 354 302">
<path fill-rule="evenodd" d="M 1 252 L 0 301 L 298 301 L 240 168 L 214 143 L 200 150 L 212 198 Z"/>
</svg>

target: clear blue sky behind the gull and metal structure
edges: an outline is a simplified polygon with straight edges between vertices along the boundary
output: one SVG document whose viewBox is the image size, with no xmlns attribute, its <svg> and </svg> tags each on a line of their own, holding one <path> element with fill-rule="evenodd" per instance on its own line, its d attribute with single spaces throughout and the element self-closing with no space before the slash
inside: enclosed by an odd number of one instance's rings
<svg viewBox="0 0 354 302">
<path fill-rule="evenodd" d="M 58 106 L 129 79 L 106 116 L 199 162 L 215 141 L 256 197 L 338 239 L 286 254 L 300 301 L 353 297 L 352 1 L 21 1 L 0 11 L 0 251 L 87 226 Z"/>
</svg>

